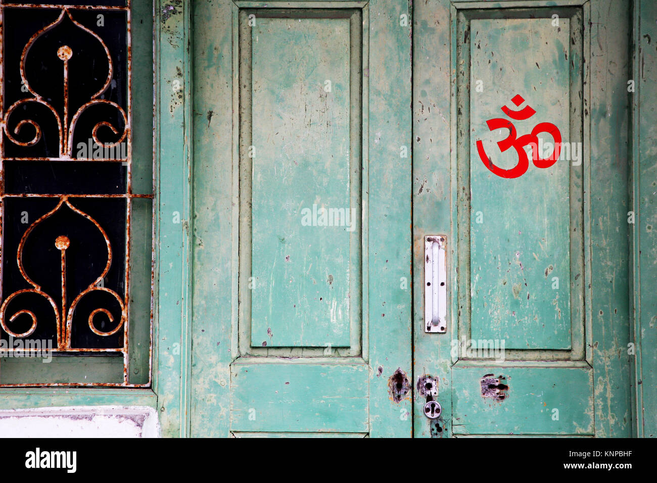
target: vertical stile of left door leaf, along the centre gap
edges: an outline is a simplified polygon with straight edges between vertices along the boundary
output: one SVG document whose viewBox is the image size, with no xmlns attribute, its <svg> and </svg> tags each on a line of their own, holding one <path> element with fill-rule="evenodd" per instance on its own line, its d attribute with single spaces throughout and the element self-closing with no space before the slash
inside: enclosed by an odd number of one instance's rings
<svg viewBox="0 0 657 483">
<path fill-rule="evenodd" d="M 394 403 L 388 378 L 411 386 L 411 26 L 405 0 L 369 3 L 369 357 L 370 436 L 411 436 L 411 394 Z M 401 26 L 402 15 L 407 26 Z M 364 336 L 365 337 L 365 336 Z M 379 370 L 380 368 L 380 370 Z"/>
</svg>

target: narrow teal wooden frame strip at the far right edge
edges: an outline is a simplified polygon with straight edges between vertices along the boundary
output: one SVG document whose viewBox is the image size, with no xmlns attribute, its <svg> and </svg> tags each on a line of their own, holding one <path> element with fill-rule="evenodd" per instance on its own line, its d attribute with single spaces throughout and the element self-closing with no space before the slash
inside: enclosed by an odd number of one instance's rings
<svg viewBox="0 0 657 483">
<path fill-rule="evenodd" d="M 633 308 L 635 357 L 636 436 L 657 436 L 657 240 L 654 174 L 657 158 L 657 4 L 634 3 L 633 101 Z"/>
</svg>

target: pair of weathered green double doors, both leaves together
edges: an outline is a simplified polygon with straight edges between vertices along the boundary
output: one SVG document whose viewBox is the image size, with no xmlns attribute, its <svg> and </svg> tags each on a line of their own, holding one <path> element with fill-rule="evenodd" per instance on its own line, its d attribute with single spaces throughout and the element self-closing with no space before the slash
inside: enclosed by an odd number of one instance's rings
<svg viewBox="0 0 657 483">
<path fill-rule="evenodd" d="M 629 7 L 196 4 L 189 434 L 631 434 Z"/>
</svg>

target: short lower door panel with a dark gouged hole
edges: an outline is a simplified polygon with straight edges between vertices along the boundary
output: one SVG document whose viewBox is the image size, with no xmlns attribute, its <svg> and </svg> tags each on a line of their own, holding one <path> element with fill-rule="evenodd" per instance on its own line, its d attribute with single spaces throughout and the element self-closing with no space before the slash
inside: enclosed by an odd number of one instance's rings
<svg viewBox="0 0 657 483">
<path fill-rule="evenodd" d="M 454 434 L 593 434 L 593 369 L 588 365 L 485 370 L 460 363 L 452 368 Z M 482 397 L 487 386 L 482 380 L 492 379 L 508 386 L 500 393 L 503 400 L 494 394 Z"/>
</svg>

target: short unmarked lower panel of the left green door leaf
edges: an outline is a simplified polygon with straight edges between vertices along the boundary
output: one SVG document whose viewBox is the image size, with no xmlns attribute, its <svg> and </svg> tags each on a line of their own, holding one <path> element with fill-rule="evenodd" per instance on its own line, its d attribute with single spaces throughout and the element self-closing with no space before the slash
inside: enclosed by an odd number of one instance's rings
<svg viewBox="0 0 657 483">
<path fill-rule="evenodd" d="M 367 432 L 367 364 L 235 363 L 231 430 Z"/>
</svg>

